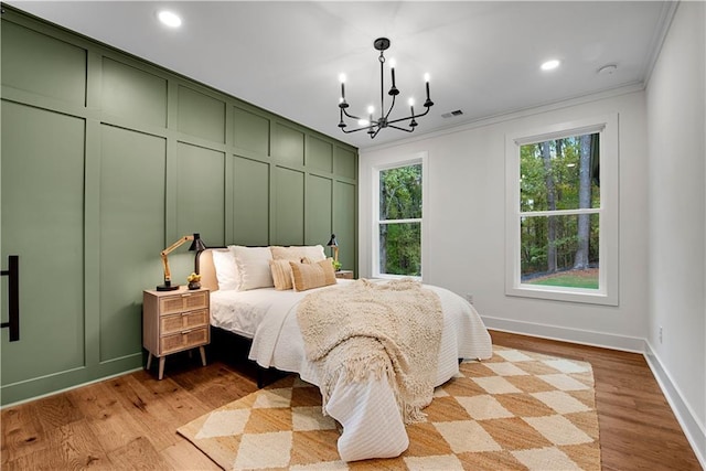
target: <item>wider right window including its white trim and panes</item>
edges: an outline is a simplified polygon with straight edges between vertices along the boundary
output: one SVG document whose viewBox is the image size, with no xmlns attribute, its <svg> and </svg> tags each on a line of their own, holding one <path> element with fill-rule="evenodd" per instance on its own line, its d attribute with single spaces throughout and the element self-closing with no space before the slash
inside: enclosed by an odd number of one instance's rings
<svg viewBox="0 0 706 471">
<path fill-rule="evenodd" d="M 618 304 L 617 117 L 507 139 L 505 292 Z"/>
</svg>

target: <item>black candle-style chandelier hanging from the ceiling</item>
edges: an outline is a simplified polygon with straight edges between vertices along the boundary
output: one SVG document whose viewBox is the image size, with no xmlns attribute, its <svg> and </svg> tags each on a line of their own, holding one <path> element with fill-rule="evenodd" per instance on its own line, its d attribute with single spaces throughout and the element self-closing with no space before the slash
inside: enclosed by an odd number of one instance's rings
<svg viewBox="0 0 706 471">
<path fill-rule="evenodd" d="M 387 49 L 389 49 L 389 40 L 387 38 L 378 38 L 373 42 L 373 46 L 375 47 L 375 50 L 379 51 L 379 57 L 377 58 L 379 61 L 379 113 L 381 113 L 379 118 L 377 118 L 377 120 L 373 120 L 374 108 L 372 106 L 367 110 L 370 115 L 367 120 L 361 119 L 357 116 L 353 116 L 347 111 L 346 108 L 349 107 L 349 104 L 345 101 L 345 77 L 341 76 L 341 99 L 339 100 L 339 109 L 341 110 L 340 111 L 341 120 L 339 121 L 339 128 L 341 128 L 341 130 L 346 135 L 351 132 L 367 130 L 367 133 L 370 135 L 371 139 L 374 139 L 375 136 L 377 136 L 379 130 L 383 128 L 395 128 L 395 129 L 399 129 L 400 131 L 411 132 L 417 127 L 417 121 L 415 120 L 415 118 L 420 118 L 427 115 L 429 113 L 429 108 L 434 106 L 434 101 L 429 99 L 429 75 L 427 74 L 425 76 L 426 88 L 427 88 L 427 99 L 424 103 L 424 107 L 426 108 L 426 110 L 420 115 L 415 115 L 414 101 L 410 98 L 409 99 L 410 115 L 405 118 L 389 119 L 389 114 L 395 107 L 395 99 L 397 98 L 397 95 L 399 95 L 399 90 L 395 86 L 395 66 L 393 64 L 391 66 L 393 85 L 389 88 L 389 92 L 387 92 L 387 95 L 393 97 L 393 101 L 389 105 L 387 113 L 385 113 L 385 93 L 384 93 L 385 84 L 384 84 L 383 66 L 385 65 L 384 52 L 387 51 Z M 344 115 L 346 118 L 356 120 L 360 127 L 355 129 L 350 129 L 350 130 L 345 129 L 347 125 L 343 120 Z M 409 120 L 409 122 L 407 124 L 407 127 L 397 126 L 398 122 L 407 121 L 407 120 Z"/>
</svg>

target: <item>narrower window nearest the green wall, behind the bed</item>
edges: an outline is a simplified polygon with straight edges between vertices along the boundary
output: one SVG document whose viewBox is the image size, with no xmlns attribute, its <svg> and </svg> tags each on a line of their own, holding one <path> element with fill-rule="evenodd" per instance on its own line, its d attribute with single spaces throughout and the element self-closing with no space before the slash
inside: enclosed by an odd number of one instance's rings
<svg viewBox="0 0 706 471">
<path fill-rule="evenodd" d="M 373 271 L 383 278 L 419 277 L 422 269 L 422 199 L 426 158 L 377 168 Z"/>
</svg>

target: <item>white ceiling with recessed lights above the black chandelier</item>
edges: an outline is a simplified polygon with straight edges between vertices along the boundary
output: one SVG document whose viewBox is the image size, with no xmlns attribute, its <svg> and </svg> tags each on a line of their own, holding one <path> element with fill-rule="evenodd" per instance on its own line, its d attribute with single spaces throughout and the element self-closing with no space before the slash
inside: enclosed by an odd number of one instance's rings
<svg viewBox="0 0 706 471">
<path fill-rule="evenodd" d="M 339 75 L 351 113 L 379 109 L 373 41 L 389 38 L 398 104 L 424 101 L 414 135 L 628 85 L 642 85 L 670 1 L 17 1 L 21 10 L 175 71 L 359 148 L 407 139 L 338 128 Z M 160 9 L 179 13 L 170 30 Z M 556 57 L 561 66 L 543 72 Z M 598 74 L 607 65 L 613 74 Z M 386 73 L 386 89 L 389 76 Z M 387 97 L 387 95 L 385 94 Z M 441 115 L 454 110 L 453 118 Z M 350 127 L 349 129 L 351 129 Z"/>
</svg>

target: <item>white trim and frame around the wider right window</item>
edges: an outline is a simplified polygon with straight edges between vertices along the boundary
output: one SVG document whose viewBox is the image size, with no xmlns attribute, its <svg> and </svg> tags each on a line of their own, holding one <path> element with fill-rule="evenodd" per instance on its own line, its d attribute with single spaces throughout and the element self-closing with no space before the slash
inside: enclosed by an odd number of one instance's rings
<svg viewBox="0 0 706 471">
<path fill-rule="evenodd" d="M 600 132 L 599 289 L 522 283 L 520 278 L 520 147 L 593 132 Z M 619 167 L 617 114 L 546 126 L 505 137 L 505 295 L 618 306 Z M 577 212 L 580 210 L 571 211 L 573 214 Z M 560 214 L 560 212 L 553 212 L 553 214 Z"/>
</svg>

